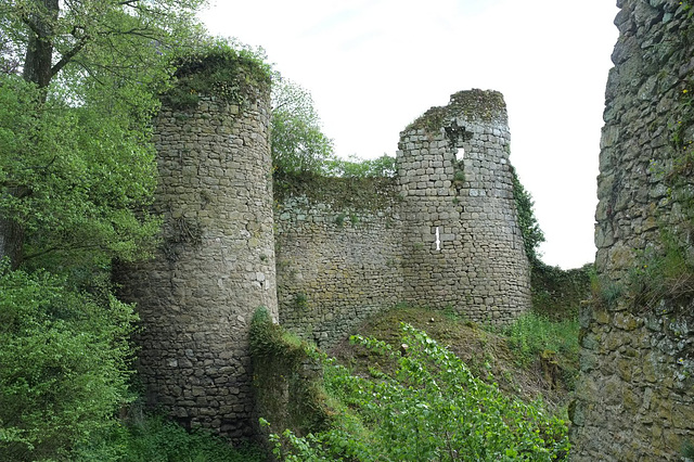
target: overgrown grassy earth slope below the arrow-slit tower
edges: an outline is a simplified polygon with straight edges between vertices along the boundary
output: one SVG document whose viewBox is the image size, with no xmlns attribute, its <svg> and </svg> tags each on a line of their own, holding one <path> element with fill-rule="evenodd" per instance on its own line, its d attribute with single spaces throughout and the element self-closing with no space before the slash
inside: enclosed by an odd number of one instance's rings
<svg viewBox="0 0 694 462">
<path fill-rule="evenodd" d="M 450 312 L 404 307 L 373 317 L 357 332 L 400 348 L 402 322 L 447 346 L 476 376 L 496 382 L 504 393 L 524 401 L 542 399 L 553 411 L 567 405 L 578 369 L 578 345 L 575 348 L 570 345 L 578 331 L 575 322 L 543 323 L 540 317 L 530 315 L 506 332 L 494 332 Z M 549 332 L 552 329 L 555 332 Z M 561 329 L 564 333 L 557 334 Z M 561 336 L 568 337 L 564 346 Z M 329 356 L 363 376 L 370 375 L 373 368 L 391 371 L 396 367 L 349 339 L 333 347 Z"/>
</svg>

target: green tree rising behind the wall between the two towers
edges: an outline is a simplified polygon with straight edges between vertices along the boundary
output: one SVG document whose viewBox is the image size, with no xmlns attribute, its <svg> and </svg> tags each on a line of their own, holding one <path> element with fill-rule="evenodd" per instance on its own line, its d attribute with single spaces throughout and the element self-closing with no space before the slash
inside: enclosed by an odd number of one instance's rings
<svg viewBox="0 0 694 462">
<path fill-rule="evenodd" d="M 333 141 L 321 131 L 311 94 L 297 84 L 275 78 L 272 88 L 271 149 L 279 174 L 322 174 L 333 158 Z"/>
</svg>

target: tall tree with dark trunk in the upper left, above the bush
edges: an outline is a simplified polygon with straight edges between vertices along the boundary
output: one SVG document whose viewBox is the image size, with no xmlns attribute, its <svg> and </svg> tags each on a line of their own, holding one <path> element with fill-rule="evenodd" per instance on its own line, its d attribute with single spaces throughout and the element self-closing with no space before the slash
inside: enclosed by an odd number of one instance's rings
<svg viewBox="0 0 694 462">
<path fill-rule="evenodd" d="M 24 80 L 38 89 L 20 88 L 7 80 L 2 84 L 5 98 L 11 98 L 8 92 L 18 92 L 17 98 L 27 107 L 24 125 L 12 124 L 7 114 L 3 120 L 9 125 L 2 127 L 0 258 L 8 257 L 13 267 L 18 267 L 29 234 L 44 241 L 57 222 L 41 221 L 43 214 L 53 218 L 59 215 L 44 207 L 46 200 L 64 198 L 70 188 L 75 194 L 68 201 L 87 201 L 78 208 L 103 211 L 116 205 L 115 201 L 124 215 L 128 211 L 120 205 L 132 205 L 137 200 L 114 197 L 107 185 L 119 183 L 121 191 L 127 185 L 138 195 L 143 190 L 151 192 L 152 167 L 144 177 L 140 174 L 144 172 L 142 166 L 153 163 L 151 149 L 143 145 L 147 144 L 149 120 L 158 103 L 155 93 L 169 80 L 168 55 L 200 31 L 192 15 L 203 1 L 81 0 L 61 4 L 59 0 L 10 0 L 0 5 L 0 37 L 8 43 L 3 63 L 18 62 Z M 55 119 L 67 128 L 67 136 L 51 126 Z M 69 137 L 79 133 L 85 136 Z M 46 151 L 46 143 L 55 150 Z M 105 159 L 110 162 L 97 174 L 94 163 Z M 132 171 L 128 171 L 131 166 Z M 82 171 L 75 176 L 74 168 Z M 83 191 L 86 187 L 92 191 Z M 56 194 L 52 188 L 57 188 Z M 42 197 L 36 200 L 37 195 Z M 27 222 L 30 216 L 38 220 Z M 111 217 L 95 213 L 86 218 L 95 217 L 102 226 L 98 231 L 125 235 L 108 224 Z M 139 221 L 151 230 L 146 217 L 142 220 L 130 215 L 118 221 L 124 220 L 131 224 Z M 46 226 L 39 227 L 37 221 Z M 132 231 L 136 228 L 130 227 Z M 59 231 L 63 233 L 65 227 Z M 80 240 L 72 235 L 68 241 Z M 112 248 L 119 245 L 112 244 Z M 49 247 L 34 251 L 44 253 Z"/>
</svg>

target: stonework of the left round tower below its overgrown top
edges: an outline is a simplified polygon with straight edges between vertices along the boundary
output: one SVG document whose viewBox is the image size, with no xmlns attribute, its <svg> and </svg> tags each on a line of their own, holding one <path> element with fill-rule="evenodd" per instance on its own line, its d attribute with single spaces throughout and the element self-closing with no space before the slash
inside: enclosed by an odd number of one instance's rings
<svg viewBox="0 0 694 462">
<path fill-rule="evenodd" d="M 277 319 L 268 127 L 267 92 L 243 106 L 163 107 L 154 205 L 163 244 L 118 275 L 142 321 L 147 405 L 232 439 L 253 428 L 250 318 L 265 306 Z"/>
</svg>

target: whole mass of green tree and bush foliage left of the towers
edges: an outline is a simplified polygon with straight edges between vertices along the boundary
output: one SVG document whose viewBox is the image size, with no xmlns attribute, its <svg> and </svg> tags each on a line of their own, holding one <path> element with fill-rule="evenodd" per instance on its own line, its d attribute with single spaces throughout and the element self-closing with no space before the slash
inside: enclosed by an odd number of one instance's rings
<svg viewBox="0 0 694 462">
<path fill-rule="evenodd" d="M 68 460 L 128 399 L 110 262 L 155 242 L 152 116 L 202 2 L 0 4 L 0 460 Z"/>
</svg>

